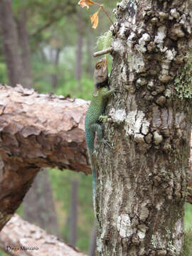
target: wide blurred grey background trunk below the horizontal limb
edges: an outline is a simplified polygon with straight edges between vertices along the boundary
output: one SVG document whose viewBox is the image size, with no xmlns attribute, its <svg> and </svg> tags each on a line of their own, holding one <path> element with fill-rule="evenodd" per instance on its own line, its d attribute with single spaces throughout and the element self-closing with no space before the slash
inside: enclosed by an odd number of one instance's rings
<svg viewBox="0 0 192 256">
<path fill-rule="evenodd" d="M 60 237 L 48 170 L 42 168 L 23 202 L 23 218 Z"/>
</svg>

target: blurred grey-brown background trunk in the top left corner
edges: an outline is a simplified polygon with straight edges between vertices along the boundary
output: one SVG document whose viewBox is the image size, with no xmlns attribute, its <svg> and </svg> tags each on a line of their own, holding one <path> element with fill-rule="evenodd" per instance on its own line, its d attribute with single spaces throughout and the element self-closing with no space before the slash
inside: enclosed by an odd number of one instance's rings
<svg viewBox="0 0 192 256">
<path fill-rule="evenodd" d="M 24 73 L 11 0 L 0 1 L 0 28 L 10 85 L 16 86 L 24 81 Z"/>
</svg>

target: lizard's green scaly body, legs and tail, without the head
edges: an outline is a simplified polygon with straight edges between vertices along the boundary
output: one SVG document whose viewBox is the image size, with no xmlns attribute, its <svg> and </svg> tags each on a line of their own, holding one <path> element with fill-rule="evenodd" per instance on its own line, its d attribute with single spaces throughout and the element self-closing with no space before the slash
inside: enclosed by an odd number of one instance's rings
<svg viewBox="0 0 192 256">
<path fill-rule="evenodd" d="M 92 198 L 95 212 L 95 194 L 96 194 L 96 173 L 93 164 L 92 154 L 94 151 L 95 132 L 97 132 L 97 142 L 105 142 L 102 137 L 102 127 L 99 124 L 100 115 L 105 112 L 107 98 L 112 95 L 114 90 L 109 90 L 107 87 L 97 89 L 97 93 L 92 96 L 90 107 L 85 116 L 85 137 L 87 148 L 90 154 L 90 164 L 92 169 Z M 96 212 L 95 212 L 96 213 Z"/>
</svg>

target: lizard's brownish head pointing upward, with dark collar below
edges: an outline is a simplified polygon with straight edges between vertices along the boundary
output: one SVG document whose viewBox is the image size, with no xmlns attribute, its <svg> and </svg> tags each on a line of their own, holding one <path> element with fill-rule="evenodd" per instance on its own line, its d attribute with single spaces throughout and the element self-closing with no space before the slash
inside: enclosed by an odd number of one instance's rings
<svg viewBox="0 0 192 256">
<path fill-rule="evenodd" d="M 105 86 L 105 82 L 108 81 L 108 67 L 107 58 L 98 60 L 94 70 L 94 84 L 96 87 Z"/>
</svg>

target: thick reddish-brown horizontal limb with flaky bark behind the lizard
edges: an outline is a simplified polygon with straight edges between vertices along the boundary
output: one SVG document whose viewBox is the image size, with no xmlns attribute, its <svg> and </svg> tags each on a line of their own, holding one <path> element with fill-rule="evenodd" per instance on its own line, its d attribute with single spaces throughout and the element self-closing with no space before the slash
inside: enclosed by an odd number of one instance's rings
<svg viewBox="0 0 192 256">
<path fill-rule="evenodd" d="M 84 119 L 88 103 L 34 90 L 0 87 L 0 229 L 41 167 L 90 173 Z"/>
</svg>

